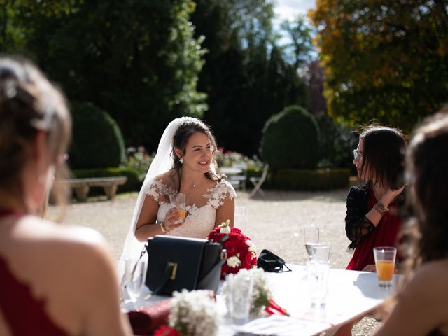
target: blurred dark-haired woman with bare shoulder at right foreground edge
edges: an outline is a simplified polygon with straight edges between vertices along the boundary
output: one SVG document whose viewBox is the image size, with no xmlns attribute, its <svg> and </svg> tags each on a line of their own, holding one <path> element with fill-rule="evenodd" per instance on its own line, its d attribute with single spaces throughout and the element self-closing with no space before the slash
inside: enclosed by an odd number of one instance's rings
<svg viewBox="0 0 448 336">
<path fill-rule="evenodd" d="M 448 111 L 447 111 L 448 112 Z M 415 218 L 405 284 L 391 315 L 375 335 L 448 335 L 448 113 L 429 118 L 407 154 Z"/>
</svg>

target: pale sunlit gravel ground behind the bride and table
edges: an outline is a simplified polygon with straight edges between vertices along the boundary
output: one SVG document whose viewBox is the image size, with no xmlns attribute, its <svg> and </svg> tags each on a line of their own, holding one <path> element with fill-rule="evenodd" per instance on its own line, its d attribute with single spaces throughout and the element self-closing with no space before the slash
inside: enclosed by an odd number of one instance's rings
<svg viewBox="0 0 448 336">
<path fill-rule="evenodd" d="M 246 230 L 258 252 L 263 248 L 280 255 L 287 262 L 304 264 L 307 254 L 303 245 L 302 228 L 319 228 L 322 242 L 332 245 L 331 267 L 345 268 L 351 254 L 346 251 L 349 240 L 344 230 L 345 199 L 348 190 L 330 192 L 267 191 L 265 197 L 248 198 L 239 193 L 236 207 L 246 208 Z M 123 249 L 132 219 L 137 193 L 118 195 L 115 200 L 92 197 L 87 203 L 69 206 L 66 223 L 85 225 L 98 230 L 118 257 Z M 54 214 L 50 207 L 49 216 Z M 353 335 L 370 335 L 377 323 L 363 318 L 353 329 Z"/>
</svg>

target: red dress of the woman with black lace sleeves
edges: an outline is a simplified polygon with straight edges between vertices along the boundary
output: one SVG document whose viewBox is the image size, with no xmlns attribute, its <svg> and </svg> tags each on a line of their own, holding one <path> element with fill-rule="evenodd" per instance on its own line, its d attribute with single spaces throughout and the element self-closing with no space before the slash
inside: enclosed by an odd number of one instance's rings
<svg viewBox="0 0 448 336">
<path fill-rule="evenodd" d="M 377 198 L 375 197 L 373 190 L 369 193 L 367 198 L 367 209 L 370 211 L 374 204 L 376 204 Z M 391 204 L 390 208 L 395 208 L 395 204 Z M 368 212 L 367 211 L 367 212 Z M 402 225 L 402 218 L 396 214 L 397 211 L 390 211 L 381 218 L 377 228 L 373 230 L 370 235 L 361 241 L 353 252 L 349 265 L 346 269 L 354 271 L 362 271 L 367 265 L 374 265 L 375 260 L 373 257 L 373 248 L 378 246 L 397 246 L 398 245 L 398 232 Z"/>
</svg>

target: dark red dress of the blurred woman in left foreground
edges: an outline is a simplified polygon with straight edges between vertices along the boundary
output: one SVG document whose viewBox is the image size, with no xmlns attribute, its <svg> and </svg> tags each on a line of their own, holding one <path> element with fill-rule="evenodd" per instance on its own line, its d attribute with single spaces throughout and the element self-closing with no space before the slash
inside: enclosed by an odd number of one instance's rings
<svg viewBox="0 0 448 336">
<path fill-rule="evenodd" d="M 15 214 L 0 209 L 0 218 Z M 30 255 L 30 258 L 32 256 Z M 0 310 L 13 335 L 66 336 L 45 311 L 45 300 L 33 297 L 26 283 L 21 283 L 10 272 L 6 260 L 0 256 Z"/>
</svg>

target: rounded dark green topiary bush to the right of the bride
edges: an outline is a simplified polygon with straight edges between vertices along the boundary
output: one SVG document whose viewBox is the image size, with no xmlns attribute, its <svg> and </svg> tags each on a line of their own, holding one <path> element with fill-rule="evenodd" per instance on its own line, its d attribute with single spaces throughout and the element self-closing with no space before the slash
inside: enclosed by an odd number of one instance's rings
<svg viewBox="0 0 448 336">
<path fill-rule="evenodd" d="M 275 171 L 314 168 L 318 162 L 319 132 L 316 120 L 300 106 L 288 106 L 272 116 L 262 130 L 260 153 Z"/>
</svg>

